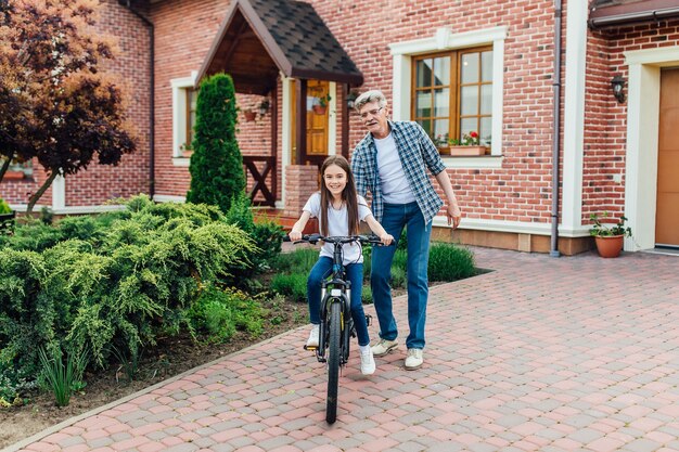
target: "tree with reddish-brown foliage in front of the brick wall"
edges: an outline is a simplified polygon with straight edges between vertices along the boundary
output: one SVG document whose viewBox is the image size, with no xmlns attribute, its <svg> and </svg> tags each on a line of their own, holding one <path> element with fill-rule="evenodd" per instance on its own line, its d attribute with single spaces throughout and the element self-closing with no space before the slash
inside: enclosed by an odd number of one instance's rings
<svg viewBox="0 0 679 452">
<path fill-rule="evenodd" d="M 113 44 L 94 33 L 98 5 L 0 1 L 0 180 L 12 159 L 37 158 L 48 173 L 28 212 L 56 176 L 87 169 L 94 156 L 117 165 L 136 148 L 123 92 L 99 70 Z"/>
</svg>

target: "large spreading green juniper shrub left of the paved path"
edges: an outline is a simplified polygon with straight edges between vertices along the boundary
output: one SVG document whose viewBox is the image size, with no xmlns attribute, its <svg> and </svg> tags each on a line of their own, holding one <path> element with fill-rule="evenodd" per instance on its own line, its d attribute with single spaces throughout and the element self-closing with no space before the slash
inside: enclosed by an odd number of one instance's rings
<svg viewBox="0 0 679 452">
<path fill-rule="evenodd" d="M 87 348 L 99 365 L 112 344 L 137 359 L 159 332 L 188 327 L 200 285 L 233 273 L 255 249 L 215 207 L 146 196 L 128 206 L 17 228 L 0 253 L 0 376 L 35 379 L 37 350 L 48 345 Z"/>
</svg>

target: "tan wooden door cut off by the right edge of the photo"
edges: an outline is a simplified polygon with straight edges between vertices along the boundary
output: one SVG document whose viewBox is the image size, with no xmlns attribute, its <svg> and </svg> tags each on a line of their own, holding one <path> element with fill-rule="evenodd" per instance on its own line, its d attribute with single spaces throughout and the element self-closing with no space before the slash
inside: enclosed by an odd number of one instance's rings
<svg viewBox="0 0 679 452">
<path fill-rule="evenodd" d="M 655 243 L 679 247 L 679 68 L 661 70 Z"/>
</svg>

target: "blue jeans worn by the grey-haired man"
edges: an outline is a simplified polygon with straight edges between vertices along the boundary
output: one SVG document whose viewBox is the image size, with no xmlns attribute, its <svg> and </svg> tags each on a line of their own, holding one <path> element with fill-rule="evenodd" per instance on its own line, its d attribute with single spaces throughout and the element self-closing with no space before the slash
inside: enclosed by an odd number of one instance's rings
<svg viewBox="0 0 679 452">
<path fill-rule="evenodd" d="M 408 238 L 408 325 L 410 334 L 406 339 L 408 348 L 424 348 L 424 322 L 426 301 L 430 294 L 427 266 L 430 261 L 430 237 L 432 222 L 424 223 L 418 203 L 385 204 L 382 225 L 396 240 L 403 227 Z M 398 330 L 392 311 L 392 261 L 396 246 L 375 246 L 372 249 L 372 271 L 370 282 L 372 298 L 380 321 L 380 337 L 396 339 Z"/>
</svg>

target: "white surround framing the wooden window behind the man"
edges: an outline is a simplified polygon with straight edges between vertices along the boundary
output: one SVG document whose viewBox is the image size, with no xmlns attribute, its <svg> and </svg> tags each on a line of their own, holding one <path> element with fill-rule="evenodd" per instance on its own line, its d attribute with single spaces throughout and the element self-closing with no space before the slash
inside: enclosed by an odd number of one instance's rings
<svg viewBox="0 0 679 452">
<path fill-rule="evenodd" d="M 492 139 L 490 156 L 498 158 L 449 158 L 449 168 L 500 168 L 502 166 L 502 105 L 504 93 L 504 39 L 507 27 L 484 28 L 453 34 L 449 28 L 439 28 L 431 38 L 388 44 L 394 65 L 392 95 L 392 117 L 395 120 L 411 120 L 410 94 L 412 86 L 412 56 L 466 49 L 478 46 L 492 46 Z"/>
</svg>

